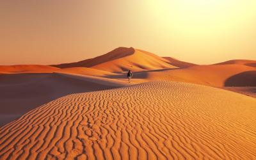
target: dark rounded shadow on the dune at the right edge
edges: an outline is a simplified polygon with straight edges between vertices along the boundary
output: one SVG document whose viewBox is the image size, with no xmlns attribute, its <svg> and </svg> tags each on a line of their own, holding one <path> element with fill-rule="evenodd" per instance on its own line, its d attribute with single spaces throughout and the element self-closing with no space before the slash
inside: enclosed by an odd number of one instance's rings
<svg viewBox="0 0 256 160">
<path fill-rule="evenodd" d="M 256 86 L 256 70 L 241 72 L 229 77 L 225 86 Z"/>
</svg>

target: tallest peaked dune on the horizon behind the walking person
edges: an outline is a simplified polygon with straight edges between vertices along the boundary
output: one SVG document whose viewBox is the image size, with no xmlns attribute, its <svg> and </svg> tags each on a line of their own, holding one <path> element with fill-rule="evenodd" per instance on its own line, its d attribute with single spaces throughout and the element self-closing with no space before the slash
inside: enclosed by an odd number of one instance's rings
<svg viewBox="0 0 256 160">
<path fill-rule="evenodd" d="M 175 68 L 170 65 L 168 60 L 139 49 L 119 47 L 107 54 L 92 58 L 89 60 L 79 61 L 76 63 L 67 63 L 53 65 L 55 67 L 92 67 L 108 72 L 122 72 L 129 69 L 133 71 L 154 70 L 161 68 Z"/>
</svg>

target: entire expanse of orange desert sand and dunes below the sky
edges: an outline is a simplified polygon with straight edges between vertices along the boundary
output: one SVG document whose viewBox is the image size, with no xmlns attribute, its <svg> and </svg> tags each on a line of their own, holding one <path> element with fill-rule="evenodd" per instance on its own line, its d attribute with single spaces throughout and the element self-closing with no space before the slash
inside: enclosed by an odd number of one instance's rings
<svg viewBox="0 0 256 160">
<path fill-rule="evenodd" d="M 0 159 L 256 159 L 255 64 L 120 47 L 54 67 L 0 66 Z"/>
</svg>

